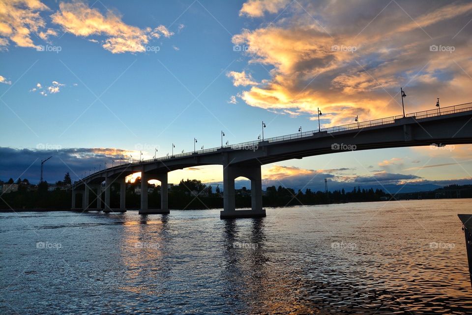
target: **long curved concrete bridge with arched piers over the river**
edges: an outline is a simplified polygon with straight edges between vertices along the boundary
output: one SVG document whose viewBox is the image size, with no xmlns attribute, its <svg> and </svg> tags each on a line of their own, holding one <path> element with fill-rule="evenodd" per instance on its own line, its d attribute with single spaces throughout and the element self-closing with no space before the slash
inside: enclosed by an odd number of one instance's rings
<svg viewBox="0 0 472 315">
<path fill-rule="evenodd" d="M 470 144 L 471 120 L 472 103 L 465 103 L 410 113 L 405 117 L 393 116 L 117 165 L 75 182 L 72 186 L 72 209 L 79 210 L 76 208 L 76 196 L 80 193 L 83 198 L 80 210 L 101 210 L 101 189 L 105 182 L 103 211 L 126 211 L 125 177 L 141 172 L 139 213 L 168 214 L 169 172 L 192 166 L 219 164 L 223 165 L 224 202 L 220 218 L 265 217 L 261 165 L 354 150 Z M 236 210 L 235 179 L 240 176 L 251 181 L 251 209 Z M 148 181 L 152 179 L 161 182 L 160 209 L 148 208 Z M 119 209 L 110 208 L 110 187 L 115 184 L 120 186 Z M 90 191 L 97 196 L 96 208 L 89 204 Z"/>
</svg>

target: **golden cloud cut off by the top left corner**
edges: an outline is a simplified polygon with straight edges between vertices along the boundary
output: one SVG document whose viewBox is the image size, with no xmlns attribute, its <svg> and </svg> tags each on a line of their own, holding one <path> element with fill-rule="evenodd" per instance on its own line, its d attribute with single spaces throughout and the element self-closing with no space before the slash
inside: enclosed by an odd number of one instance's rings
<svg viewBox="0 0 472 315">
<path fill-rule="evenodd" d="M 0 2 L 0 49 L 7 49 L 10 41 L 19 47 L 37 48 L 31 39 L 35 34 L 47 41 L 49 36 L 56 36 L 56 31 L 46 28 L 46 22 L 40 16 L 49 8 L 40 0 L 14 0 Z"/>
</svg>

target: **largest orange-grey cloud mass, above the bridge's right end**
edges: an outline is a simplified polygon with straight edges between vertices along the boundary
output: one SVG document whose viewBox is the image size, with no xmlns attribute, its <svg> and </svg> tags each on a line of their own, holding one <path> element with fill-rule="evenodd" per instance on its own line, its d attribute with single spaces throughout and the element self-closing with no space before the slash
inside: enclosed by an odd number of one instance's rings
<svg viewBox="0 0 472 315">
<path fill-rule="evenodd" d="M 264 84 L 242 91 L 246 104 L 310 119 L 320 107 L 324 126 L 334 126 L 352 123 L 356 115 L 365 121 L 400 114 L 400 86 L 409 95 L 408 112 L 431 109 L 432 94 L 451 95 L 450 105 L 472 98 L 472 31 L 457 27 L 469 22 L 471 3 L 417 3 L 413 8 L 399 0 L 385 8 L 374 0 L 342 6 L 328 0 L 297 2 L 283 18 L 233 36 L 234 44 L 247 47 L 242 52 L 247 66 L 270 69 Z M 247 1 L 240 14 L 262 16 L 280 7 Z M 431 51 L 431 45 L 455 51 Z"/>
</svg>

